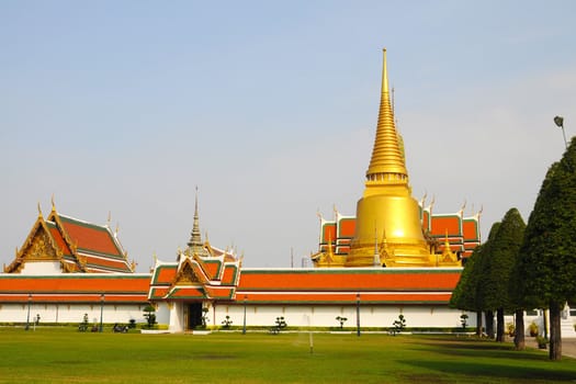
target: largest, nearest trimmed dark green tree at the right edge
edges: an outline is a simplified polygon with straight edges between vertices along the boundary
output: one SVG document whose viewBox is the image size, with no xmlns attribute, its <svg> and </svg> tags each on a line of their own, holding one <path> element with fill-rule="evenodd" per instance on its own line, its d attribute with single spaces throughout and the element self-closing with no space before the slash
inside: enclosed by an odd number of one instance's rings
<svg viewBox="0 0 576 384">
<path fill-rule="evenodd" d="M 553 163 L 530 214 L 520 250 L 519 290 L 550 309 L 550 359 L 562 359 L 561 310 L 576 297 L 576 137 Z"/>
</svg>

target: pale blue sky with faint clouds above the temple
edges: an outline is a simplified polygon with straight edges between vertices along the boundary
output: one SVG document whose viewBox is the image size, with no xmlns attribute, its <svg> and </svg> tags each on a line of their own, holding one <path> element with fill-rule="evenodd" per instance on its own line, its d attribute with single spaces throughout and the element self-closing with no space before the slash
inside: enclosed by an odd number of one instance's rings
<svg viewBox="0 0 576 384">
<path fill-rule="evenodd" d="M 104 224 L 138 271 L 192 227 L 248 267 L 354 214 L 388 49 L 414 195 L 524 219 L 576 129 L 574 1 L 2 1 L 0 261 L 36 203 Z"/>
</svg>

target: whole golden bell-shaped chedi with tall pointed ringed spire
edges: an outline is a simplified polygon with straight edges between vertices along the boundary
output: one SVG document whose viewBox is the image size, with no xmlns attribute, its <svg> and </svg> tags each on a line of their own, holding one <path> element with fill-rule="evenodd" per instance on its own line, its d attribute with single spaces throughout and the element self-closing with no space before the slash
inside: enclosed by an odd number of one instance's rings
<svg viewBox="0 0 576 384">
<path fill-rule="evenodd" d="M 403 142 L 394 123 L 386 49 L 376 137 L 366 171 L 365 190 L 357 205 L 355 234 L 350 241 L 350 253 L 345 266 L 460 266 L 452 252 L 450 260 L 431 253 L 431 247 L 423 236 L 419 205 L 411 196 L 408 183 Z"/>
</svg>

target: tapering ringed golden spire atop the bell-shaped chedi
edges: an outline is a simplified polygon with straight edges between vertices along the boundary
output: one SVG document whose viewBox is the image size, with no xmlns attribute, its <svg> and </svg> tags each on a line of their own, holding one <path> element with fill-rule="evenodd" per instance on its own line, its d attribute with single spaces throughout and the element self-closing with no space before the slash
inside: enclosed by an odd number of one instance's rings
<svg viewBox="0 0 576 384">
<path fill-rule="evenodd" d="M 380 99 L 379 123 L 376 138 L 372 149 L 372 158 L 366 171 L 369 181 L 392 181 L 407 183 L 408 172 L 398 143 L 398 133 L 394 124 L 388 90 L 388 72 L 386 68 L 386 49 L 382 67 L 382 92 Z"/>
</svg>

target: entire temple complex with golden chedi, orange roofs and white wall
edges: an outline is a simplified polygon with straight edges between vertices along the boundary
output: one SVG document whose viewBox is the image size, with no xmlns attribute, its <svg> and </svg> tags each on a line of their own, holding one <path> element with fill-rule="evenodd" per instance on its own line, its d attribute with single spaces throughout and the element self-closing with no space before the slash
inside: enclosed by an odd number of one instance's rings
<svg viewBox="0 0 576 384">
<path fill-rule="evenodd" d="M 402 137 L 396 131 L 384 52 L 381 104 L 365 189 L 355 216 L 320 218 L 314 268 L 245 268 L 233 249 L 202 238 L 197 193 L 188 247 L 134 273 L 110 225 L 38 210 L 14 261 L 0 274 L 0 323 L 37 314 L 49 323 L 144 323 L 153 304 L 168 331 L 200 326 L 456 328 L 462 312 L 448 306 L 462 261 L 479 244 L 479 213 L 432 212 L 411 195 Z M 470 316 L 474 326 L 475 316 Z"/>
</svg>

